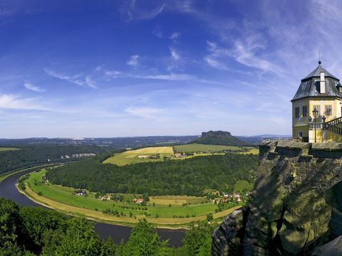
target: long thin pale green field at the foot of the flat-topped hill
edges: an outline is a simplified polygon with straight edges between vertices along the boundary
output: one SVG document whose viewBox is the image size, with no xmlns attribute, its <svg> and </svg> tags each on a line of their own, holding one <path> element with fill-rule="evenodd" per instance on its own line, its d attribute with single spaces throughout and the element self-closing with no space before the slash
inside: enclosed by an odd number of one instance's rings
<svg viewBox="0 0 342 256">
<path fill-rule="evenodd" d="M 207 145 L 207 144 L 185 144 L 185 145 L 177 145 L 174 146 L 175 151 L 177 152 L 198 152 L 198 151 L 223 151 L 223 150 L 231 150 L 231 151 L 242 151 L 243 149 L 252 150 L 254 147 L 252 146 L 222 146 L 222 145 Z"/>
</svg>

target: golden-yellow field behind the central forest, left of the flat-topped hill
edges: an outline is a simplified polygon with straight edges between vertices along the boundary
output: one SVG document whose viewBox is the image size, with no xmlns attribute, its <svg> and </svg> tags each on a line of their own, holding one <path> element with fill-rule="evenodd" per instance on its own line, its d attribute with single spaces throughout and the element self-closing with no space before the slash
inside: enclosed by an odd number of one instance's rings
<svg viewBox="0 0 342 256">
<path fill-rule="evenodd" d="M 160 154 L 160 159 L 138 159 L 138 156 L 150 156 L 154 154 Z M 115 154 L 114 156 L 105 159 L 103 164 L 116 164 L 118 166 L 123 166 L 125 164 L 137 164 L 145 161 L 162 161 L 163 156 L 170 157 L 172 154 L 172 146 L 147 147 Z"/>
</svg>

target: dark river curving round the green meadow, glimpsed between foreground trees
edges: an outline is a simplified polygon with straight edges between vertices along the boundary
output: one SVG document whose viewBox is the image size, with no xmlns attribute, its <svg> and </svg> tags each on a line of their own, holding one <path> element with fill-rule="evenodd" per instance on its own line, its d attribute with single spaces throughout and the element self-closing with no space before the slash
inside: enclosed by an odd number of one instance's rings
<svg viewBox="0 0 342 256">
<path fill-rule="evenodd" d="M 31 170 L 22 171 L 18 174 L 13 174 L 6 178 L 4 181 L 2 181 L 0 183 L 0 197 L 11 199 L 12 201 L 18 203 L 21 206 L 34 206 L 46 208 L 38 203 L 31 201 L 30 198 L 24 196 L 22 193 L 19 193 L 19 191 L 16 189 L 15 184 L 18 178 L 29 172 L 31 172 Z M 131 229 L 132 228 L 130 227 L 121 225 L 95 223 L 95 232 L 98 233 L 100 238 L 107 239 L 110 236 L 113 239 L 113 241 L 117 243 L 119 243 L 122 239 L 127 241 Z M 182 245 L 182 239 L 185 235 L 184 230 L 167 230 L 162 228 L 158 228 L 157 233 L 160 235 L 162 239 L 169 239 L 170 246 L 175 247 Z"/>
</svg>

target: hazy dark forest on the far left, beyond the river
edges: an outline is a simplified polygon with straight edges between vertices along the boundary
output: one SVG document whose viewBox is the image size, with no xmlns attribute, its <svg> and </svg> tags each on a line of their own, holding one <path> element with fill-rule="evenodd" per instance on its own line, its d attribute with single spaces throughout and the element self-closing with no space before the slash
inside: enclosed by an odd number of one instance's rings
<svg viewBox="0 0 342 256">
<path fill-rule="evenodd" d="M 113 146 L 56 146 L 35 145 L 20 146 L 19 150 L 0 151 L 0 174 L 22 167 L 46 164 L 48 162 L 62 161 L 61 155 L 71 154 L 103 154 L 109 151 L 120 151 Z M 64 161 L 75 160 L 73 158 Z"/>
</svg>

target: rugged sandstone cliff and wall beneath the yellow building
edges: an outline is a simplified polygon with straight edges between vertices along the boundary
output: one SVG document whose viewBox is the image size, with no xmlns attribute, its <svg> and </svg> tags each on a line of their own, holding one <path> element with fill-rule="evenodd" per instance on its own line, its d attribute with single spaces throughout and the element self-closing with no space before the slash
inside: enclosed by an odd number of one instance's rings
<svg viewBox="0 0 342 256">
<path fill-rule="evenodd" d="M 341 143 L 261 144 L 252 201 L 214 231 L 212 255 L 310 255 L 342 235 L 341 159 Z"/>
</svg>

